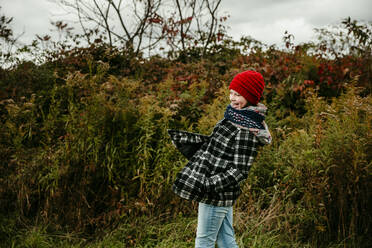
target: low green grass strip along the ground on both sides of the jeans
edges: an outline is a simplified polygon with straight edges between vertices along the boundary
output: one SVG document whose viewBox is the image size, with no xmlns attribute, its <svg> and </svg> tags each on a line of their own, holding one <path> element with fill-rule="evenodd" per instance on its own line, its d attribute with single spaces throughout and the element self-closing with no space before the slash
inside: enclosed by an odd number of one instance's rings
<svg viewBox="0 0 372 248">
<path fill-rule="evenodd" d="M 237 213 L 239 216 L 242 213 Z M 309 243 L 288 240 L 284 230 L 267 230 L 260 216 L 238 219 L 235 226 L 240 248 L 310 248 Z M 262 217 L 262 216 L 261 216 Z M 265 217 L 264 217 L 265 218 Z M 244 222 L 245 221 L 245 222 Z M 244 222 L 244 223 L 243 223 Z M 260 224 L 261 223 L 261 224 Z M 0 247 L 11 248 L 191 248 L 197 225 L 196 216 L 178 216 L 172 219 L 140 217 L 123 223 L 112 231 L 94 237 L 82 237 L 71 233 L 48 233 L 45 227 L 29 227 Z M 344 244 L 328 244 L 321 247 L 338 248 Z M 346 245 L 346 247 L 349 247 Z M 357 247 L 357 246 L 350 246 Z"/>
</svg>

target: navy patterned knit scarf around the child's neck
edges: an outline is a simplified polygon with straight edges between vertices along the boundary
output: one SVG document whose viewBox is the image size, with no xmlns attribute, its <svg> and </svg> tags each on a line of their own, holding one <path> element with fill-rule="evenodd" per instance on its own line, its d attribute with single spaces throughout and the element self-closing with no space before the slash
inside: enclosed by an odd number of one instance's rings
<svg viewBox="0 0 372 248">
<path fill-rule="evenodd" d="M 262 124 L 265 116 L 251 108 L 234 109 L 229 105 L 226 108 L 224 116 L 225 119 L 246 128 L 265 129 Z"/>
</svg>

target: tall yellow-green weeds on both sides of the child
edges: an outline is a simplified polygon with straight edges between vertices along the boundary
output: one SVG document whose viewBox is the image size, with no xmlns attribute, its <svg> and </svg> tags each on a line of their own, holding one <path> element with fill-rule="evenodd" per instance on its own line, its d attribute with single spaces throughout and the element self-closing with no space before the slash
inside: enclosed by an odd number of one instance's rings
<svg viewBox="0 0 372 248">
<path fill-rule="evenodd" d="M 195 223 L 186 218 L 174 226 L 170 219 L 193 216 L 195 209 L 170 190 L 186 161 L 167 129 L 208 134 L 222 118 L 227 91 L 205 103 L 207 82 L 180 86 L 168 79 L 150 94 L 148 85 L 109 76 L 101 66 L 98 74 L 71 74 L 48 93 L 1 102 L 0 208 L 6 214 L 0 237 L 7 246 L 18 246 L 12 237 L 23 234 L 30 247 L 79 247 L 89 244 L 81 237 L 108 227 L 131 238 L 101 236 L 92 247 L 192 244 Z M 274 143 L 261 149 L 236 205 L 241 246 L 371 244 L 371 96 L 347 88 L 332 101 L 306 89 L 301 115 L 282 109 L 278 99 L 266 102 Z M 144 216 L 158 221 L 146 226 Z M 177 235 L 185 226 L 182 241 Z M 79 232 L 76 242 L 48 235 Z"/>
</svg>

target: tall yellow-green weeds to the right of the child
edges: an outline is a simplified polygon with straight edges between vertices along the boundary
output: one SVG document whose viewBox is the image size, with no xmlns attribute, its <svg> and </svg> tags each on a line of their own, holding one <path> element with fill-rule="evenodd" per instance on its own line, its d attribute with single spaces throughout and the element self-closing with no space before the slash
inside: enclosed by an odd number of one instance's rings
<svg viewBox="0 0 372 248">
<path fill-rule="evenodd" d="M 241 211 L 276 210 L 263 226 L 292 241 L 371 244 L 372 99 L 357 92 L 350 87 L 331 103 L 310 93 L 305 116 L 280 121 L 292 126 L 272 125 L 281 127 L 251 171 Z"/>
</svg>

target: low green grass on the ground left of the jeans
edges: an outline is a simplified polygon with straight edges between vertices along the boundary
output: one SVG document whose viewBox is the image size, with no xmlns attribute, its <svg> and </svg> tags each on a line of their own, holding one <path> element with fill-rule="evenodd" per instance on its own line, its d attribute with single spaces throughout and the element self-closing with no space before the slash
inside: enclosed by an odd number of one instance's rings
<svg viewBox="0 0 372 248">
<path fill-rule="evenodd" d="M 125 220 L 123 220 L 125 222 Z M 47 233 L 43 227 L 29 227 L 18 231 L 5 246 L 14 248 L 169 248 L 193 247 L 196 217 L 177 217 L 154 220 L 141 217 L 131 223 L 122 223 L 115 230 L 95 237 L 76 234 Z"/>
</svg>

